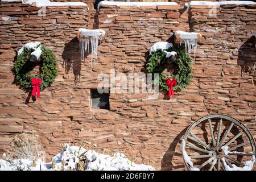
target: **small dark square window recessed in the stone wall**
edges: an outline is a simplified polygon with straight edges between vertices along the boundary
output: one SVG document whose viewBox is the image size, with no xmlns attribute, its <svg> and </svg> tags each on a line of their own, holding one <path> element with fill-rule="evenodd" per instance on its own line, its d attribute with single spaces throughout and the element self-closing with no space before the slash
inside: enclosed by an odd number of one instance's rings
<svg viewBox="0 0 256 182">
<path fill-rule="evenodd" d="M 109 109 L 109 93 L 98 93 L 98 90 L 90 90 L 90 103 L 92 108 Z"/>
</svg>

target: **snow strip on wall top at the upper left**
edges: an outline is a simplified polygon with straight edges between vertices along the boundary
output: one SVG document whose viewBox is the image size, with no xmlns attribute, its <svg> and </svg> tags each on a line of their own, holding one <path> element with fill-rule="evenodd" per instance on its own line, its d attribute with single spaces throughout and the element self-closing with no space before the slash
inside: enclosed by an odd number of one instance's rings
<svg viewBox="0 0 256 182">
<path fill-rule="evenodd" d="M 51 2 L 49 0 L 1 0 L 2 2 L 15 2 L 22 1 L 22 3 L 30 4 L 35 3 L 36 7 L 46 6 L 87 6 L 84 2 Z"/>
</svg>

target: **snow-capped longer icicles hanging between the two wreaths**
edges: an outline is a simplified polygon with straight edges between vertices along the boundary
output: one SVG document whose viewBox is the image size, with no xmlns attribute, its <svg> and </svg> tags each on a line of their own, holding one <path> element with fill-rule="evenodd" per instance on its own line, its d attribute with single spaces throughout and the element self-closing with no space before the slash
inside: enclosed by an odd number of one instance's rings
<svg viewBox="0 0 256 182">
<path fill-rule="evenodd" d="M 102 40 L 105 36 L 105 31 L 101 29 L 96 30 L 88 30 L 85 28 L 80 28 L 80 51 L 81 51 L 81 59 L 84 61 L 86 53 L 89 53 L 89 44 L 92 49 L 92 60 L 91 60 L 91 67 L 93 63 L 97 60 L 97 53 L 98 53 L 98 40 Z"/>
</svg>

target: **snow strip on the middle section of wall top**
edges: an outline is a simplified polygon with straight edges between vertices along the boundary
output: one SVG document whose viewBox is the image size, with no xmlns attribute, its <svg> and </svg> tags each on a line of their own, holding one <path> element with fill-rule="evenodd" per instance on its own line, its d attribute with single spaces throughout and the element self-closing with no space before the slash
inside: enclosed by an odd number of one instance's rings
<svg viewBox="0 0 256 182">
<path fill-rule="evenodd" d="M 98 10 L 101 5 L 113 5 L 113 6 L 171 6 L 178 5 L 176 2 L 115 2 L 115 1 L 101 1 L 98 3 Z"/>
</svg>

